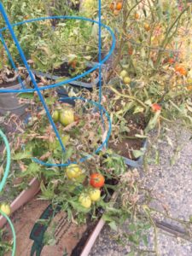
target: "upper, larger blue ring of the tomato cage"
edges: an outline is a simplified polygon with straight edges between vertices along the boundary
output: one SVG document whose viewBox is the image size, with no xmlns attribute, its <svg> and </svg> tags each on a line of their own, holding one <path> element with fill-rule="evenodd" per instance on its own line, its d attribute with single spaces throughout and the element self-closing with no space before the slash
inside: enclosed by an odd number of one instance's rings
<svg viewBox="0 0 192 256">
<path fill-rule="evenodd" d="M 98 26 L 100 25 L 100 23 L 96 20 L 91 20 L 91 19 L 88 19 L 88 18 L 84 18 L 84 17 L 78 17 L 78 16 L 49 16 L 49 17 L 41 17 L 41 18 L 36 18 L 36 19 L 32 19 L 32 20 L 23 20 L 23 21 L 20 21 L 18 23 L 15 23 L 15 24 L 12 24 L 12 26 L 20 26 L 22 24 L 26 24 L 26 23 L 30 23 L 30 22 L 34 22 L 34 21 L 39 21 L 39 20 L 53 20 L 53 19 L 67 19 L 67 20 L 85 20 L 85 21 L 90 21 L 90 22 L 93 22 L 93 23 L 96 23 Z M 72 79 L 67 79 L 67 80 L 64 80 L 64 81 L 61 81 L 59 83 L 56 83 L 56 84 L 49 84 L 47 86 L 42 86 L 42 87 L 38 87 L 39 90 L 48 90 L 48 89 L 51 89 L 51 88 L 55 88 L 55 87 L 58 87 L 58 86 L 61 86 L 63 84 L 68 84 L 74 80 L 77 80 L 77 79 L 81 79 L 83 78 L 84 76 L 86 76 L 87 74 L 89 73 L 92 73 L 93 71 L 95 71 L 97 68 L 101 67 L 103 63 L 105 63 L 106 61 L 108 61 L 108 58 L 110 57 L 110 55 L 112 55 L 113 53 L 113 50 L 115 48 L 115 43 L 116 43 L 116 39 L 115 39 L 115 36 L 113 34 L 113 31 L 111 30 L 111 28 L 109 26 L 106 26 L 104 24 L 101 24 L 101 26 L 105 29 L 108 30 L 108 32 L 111 34 L 111 37 L 112 37 L 112 46 L 111 46 L 111 49 L 109 49 L 108 51 L 108 55 L 106 55 L 102 61 L 98 64 L 96 64 L 94 67 L 90 68 L 90 70 L 72 78 Z M 5 30 L 7 30 L 8 27 L 5 26 L 3 27 L 2 29 L 0 29 L 0 32 L 3 32 Z M 36 91 L 35 89 L 22 89 L 22 90 L 7 90 L 7 89 L 1 89 L 0 92 L 1 93 L 7 93 L 7 92 L 12 92 L 12 93 L 20 93 L 20 92 L 33 92 L 33 91 Z"/>
</svg>

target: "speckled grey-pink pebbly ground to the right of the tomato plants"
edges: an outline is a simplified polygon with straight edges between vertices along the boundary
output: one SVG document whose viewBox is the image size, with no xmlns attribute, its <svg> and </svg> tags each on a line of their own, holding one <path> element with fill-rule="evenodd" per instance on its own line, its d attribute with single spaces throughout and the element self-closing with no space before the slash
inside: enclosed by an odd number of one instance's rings
<svg viewBox="0 0 192 256">
<path fill-rule="evenodd" d="M 154 163 L 155 154 L 153 153 L 149 158 L 151 163 L 148 171 L 140 170 L 143 186 L 151 189 L 152 195 L 158 198 L 158 201 L 151 202 L 150 207 L 164 213 L 167 211 L 172 218 L 187 221 L 192 216 L 192 140 L 190 137 L 192 137 L 191 132 L 179 125 L 169 127 L 165 137 L 159 139 L 156 144 L 156 149 L 160 153 L 160 164 Z M 157 215 L 158 217 L 160 215 Z M 177 221 L 172 221 L 170 218 L 160 218 L 160 220 L 165 224 L 171 224 L 173 233 L 177 229 L 183 230 L 183 226 Z M 115 232 L 106 226 L 92 248 L 90 256 L 128 256 L 129 245 L 121 247 L 113 237 Z M 157 238 L 159 256 L 192 255 L 192 239 L 186 240 L 162 229 L 158 229 Z M 154 250 L 153 229 L 148 232 L 148 247 L 145 249 Z M 133 255 L 152 256 L 156 253 L 140 252 Z"/>
</svg>

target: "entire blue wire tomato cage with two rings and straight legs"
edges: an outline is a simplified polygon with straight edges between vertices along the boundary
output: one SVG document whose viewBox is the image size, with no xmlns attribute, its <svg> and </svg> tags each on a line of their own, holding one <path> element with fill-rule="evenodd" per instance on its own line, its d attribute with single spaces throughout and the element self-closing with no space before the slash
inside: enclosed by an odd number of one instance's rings
<svg viewBox="0 0 192 256">
<path fill-rule="evenodd" d="M 102 119 L 102 115 L 103 114 L 107 117 L 107 119 L 108 119 L 107 136 L 106 136 L 104 142 L 102 142 L 102 144 L 100 146 L 98 146 L 98 148 L 95 150 L 95 152 L 93 154 L 98 153 L 100 150 L 102 150 L 102 148 L 104 146 L 107 145 L 108 139 L 109 139 L 110 134 L 111 134 L 111 120 L 110 120 L 108 112 L 105 110 L 105 108 L 102 107 L 102 104 L 101 104 L 102 103 L 102 64 L 104 64 L 106 61 L 108 61 L 109 56 L 112 55 L 113 50 L 115 48 L 115 36 L 113 34 L 113 31 L 111 30 L 111 28 L 109 26 L 106 26 L 106 25 L 102 24 L 102 1 L 98 0 L 98 21 L 91 20 L 91 19 L 84 18 L 84 17 L 78 17 L 78 16 L 51 16 L 51 17 L 41 17 L 41 18 L 32 19 L 32 20 L 23 20 L 21 22 L 18 22 L 18 23 L 15 23 L 15 24 L 11 24 L 10 21 L 9 21 L 8 15 L 6 14 L 6 12 L 5 12 L 4 8 L 3 8 L 3 3 L 1 3 L 1 2 L 0 2 L 0 12 L 1 12 L 2 16 L 3 16 L 3 20 L 6 23 L 6 26 L 0 29 L 0 40 L 1 40 L 2 44 L 3 44 L 4 49 L 7 52 L 7 55 L 9 56 L 9 61 L 11 62 L 12 67 L 17 72 L 18 70 L 17 70 L 17 67 L 15 65 L 15 61 L 13 60 L 13 58 L 12 58 L 10 52 L 9 52 L 9 48 L 8 48 L 4 38 L 3 38 L 2 32 L 6 31 L 6 30 L 9 31 L 13 41 L 15 42 L 16 48 L 18 50 L 18 53 L 20 54 L 21 60 L 23 61 L 24 65 L 26 67 L 26 70 L 27 70 L 27 72 L 29 74 L 29 77 L 32 80 L 32 84 L 33 84 L 33 88 L 31 88 L 31 89 L 27 88 L 26 89 L 25 85 L 23 84 L 23 82 L 21 80 L 21 78 L 19 77 L 18 80 L 20 82 L 20 90 L 0 89 L 0 93 L 23 93 L 23 92 L 34 92 L 34 91 L 36 91 L 38 93 L 38 97 L 39 97 L 40 101 L 43 104 L 43 107 L 44 107 L 45 112 L 47 114 L 47 117 L 49 119 L 49 123 L 52 125 L 53 130 L 55 131 L 55 135 L 58 138 L 58 141 L 59 141 L 59 143 L 61 145 L 61 148 L 62 148 L 63 152 L 65 152 L 66 148 L 65 148 L 65 146 L 63 145 L 63 143 L 61 141 L 61 137 L 59 135 L 59 132 L 57 131 L 55 123 L 54 123 L 54 121 L 53 121 L 53 119 L 52 119 L 52 117 L 51 117 L 51 115 L 49 113 L 49 108 L 48 108 L 46 102 L 44 101 L 44 96 L 42 94 L 42 90 L 49 90 L 49 89 L 53 89 L 55 87 L 59 87 L 59 86 L 64 85 L 64 84 L 68 84 L 70 82 L 73 82 L 74 80 L 83 78 L 84 76 L 86 76 L 89 73 L 92 73 L 96 69 L 99 70 L 99 101 L 98 102 L 88 101 L 88 100 L 86 100 L 86 99 L 84 99 L 82 97 L 66 97 L 66 98 L 62 98 L 61 99 L 61 100 L 65 100 L 65 99 L 82 100 L 84 102 L 86 102 L 86 101 L 90 102 L 90 104 L 92 104 L 95 108 L 99 109 L 99 111 L 101 113 L 101 119 Z M 31 69 L 31 67 L 29 66 L 29 64 L 26 61 L 26 56 L 25 56 L 23 50 L 20 47 L 20 43 L 18 41 L 18 38 L 15 36 L 14 27 L 15 26 L 20 26 L 20 25 L 23 25 L 23 24 L 26 24 L 26 23 L 32 23 L 32 22 L 41 21 L 41 20 L 53 20 L 53 19 L 58 19 L 58 20 L 61 20 L 61 19 L 66 19 L 66 20 L 84 20 L 84 21 L 89 21 L 91 23 L 97 24 L 99 26 L 99 32 L 98 32 L 99 33 L 99 39 L 98 39 L 98 57 L 99 57 L 99 61 L 98 61 L 98 64 L 96 64 L 94 67 L 91 67 L 86 72 L 84 72 L 84 73 L 82 73 L 80 75 L 77 75 L 74 78 L 66 79 L 66 80 L 63 80 L 63 81 L 61 81 L 59 83 L 49 84 L 49 85 L 43 86 L 43 87 L 38 87 L 38 83 L 37 83 L 36 79 L 34 78 L 34 76 L 32 74 L 32 69 Z M 105 28 L 109 32 L 111 37 L 112 37 L 111 48 L 109 49 L 108 54 L 103 59 L 102 59 L 102 28 Z M 79 161 L 80 162 L 84 162 L 84 160 L 87 160 L 90 157 L 91 157 L 91 155 L 87 155 L 86 157 L 82 158 Z M 38 159 L 35 159 L 35 158 L 33 158 L 33 160 L 38 162 L 41 165 L 44 165 L 44 166 L 68 166 L 68 165 L 71 164 L 70 160 L 68 160 L 67 163 L 64 163 L 64 164 L 62 164 L 62 163 L 61 164 L 45 163 L 44 161 L 41 161 L 41 160 L 38 160 Z"/>
</svg>

